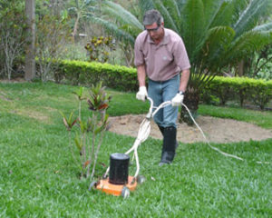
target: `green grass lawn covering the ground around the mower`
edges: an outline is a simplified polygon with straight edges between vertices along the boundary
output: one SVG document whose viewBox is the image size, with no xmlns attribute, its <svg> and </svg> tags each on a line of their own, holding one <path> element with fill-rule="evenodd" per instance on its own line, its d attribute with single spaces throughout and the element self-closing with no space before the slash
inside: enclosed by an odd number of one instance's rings
<svg viewBox="0 0 272 218">
<path fill-rule="evenodd" d="M 159 167 L 160 140 L 139 148 L 147 182 L 123 200 L 88 192 L 78 179 L 59 110 L 76 112 L 77 87 L 60 84 L 0 84 L 0 217 L 271 217 L 272 139 L 213 144 L 247 161 L 222 156 L 206 144 L 180 144 L 174 163 Z M 111 115 L 145 114 L 135 94 L 109 90 Z M 87 92 L 86 92 L 87 94 Z M 83 107 L 86 105 L 83 104 Z M 87 115 L 85 110 L 83 115 Z M 272 113 L 200 105 L 199 114 L 234 118 L 272 129 Z M 107 133 L 96 176 L 109 156 L 134 138 Z M 130 166 L 134 172 L 135 166 Z"/>
</svg>

